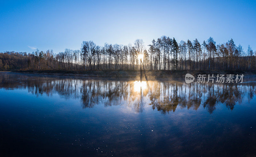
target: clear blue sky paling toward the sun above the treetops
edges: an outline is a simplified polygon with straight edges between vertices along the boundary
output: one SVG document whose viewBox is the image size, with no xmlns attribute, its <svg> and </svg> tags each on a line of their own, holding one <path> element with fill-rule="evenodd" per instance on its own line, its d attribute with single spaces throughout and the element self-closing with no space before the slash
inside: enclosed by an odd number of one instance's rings
<svg viewBox="0 0 256 157">
<path fill-rule="evenodd" d="M 256 50 L 256 0 L 251 1 L 0 1 L 0 52 L 80 49 L 95 44 L 145 46 L 162 35 L 216 44 L 233 39 Z"/>
</svg>

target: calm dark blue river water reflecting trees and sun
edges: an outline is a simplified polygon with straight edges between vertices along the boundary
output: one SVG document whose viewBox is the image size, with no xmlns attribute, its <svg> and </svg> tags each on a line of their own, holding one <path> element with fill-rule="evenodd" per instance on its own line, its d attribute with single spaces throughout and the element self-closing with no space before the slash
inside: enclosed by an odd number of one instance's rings
<svg viewBox="0 0 256 157">
<path fill-rule="evenodd" d="M 256 155 L 255 81 L 184 82 L 1 72 L 0 155 Z"/>
</svg>

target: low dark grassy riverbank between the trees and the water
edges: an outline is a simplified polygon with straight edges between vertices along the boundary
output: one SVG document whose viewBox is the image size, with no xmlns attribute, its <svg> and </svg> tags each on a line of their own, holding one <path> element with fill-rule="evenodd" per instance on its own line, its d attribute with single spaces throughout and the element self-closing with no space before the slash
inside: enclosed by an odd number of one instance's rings
<svg viewBox="0 0 256 157">
<path fill-rule="evenodd" d="M 108 78 L 126 78 L 126 79 L 140 79 L 140 71 L 65 71 L 65 70 L 13 70 L 16 73 L 26 74 L 41 74 L 41 75 L 59 75 L 59 76 L 79 76 L 79 77 L 108 77 Z M 157 71 L 145 71 L 148 80 L 159 79 L 179 79 L 184 78 L 186 74 L 197 76 L 203 75 L 217 75 L 217 74 L 244 74 L 255 75 L 256 71 L 203 71 L 203 70 L 157 70 Z M 142 79 L 145 80 L 145 74 L 142 72 Z"/>
</svg>

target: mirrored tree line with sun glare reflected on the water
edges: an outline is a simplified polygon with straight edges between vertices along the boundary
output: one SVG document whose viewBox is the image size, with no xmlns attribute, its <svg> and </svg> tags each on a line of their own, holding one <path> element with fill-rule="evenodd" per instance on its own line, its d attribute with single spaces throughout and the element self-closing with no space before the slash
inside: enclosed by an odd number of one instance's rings
<svg viewBox="0 0 256 157">
<path fill-rule="evenodd" d="M 19 78 L 17 78 L 19 77 Z M 145 104 L 163 114 L 181 108 L 197 110 L 203 105 L 209 113 L 223 103 L 230 110 L 243 97 L 250 101 L 256 94 L 255 84 L 186 84 L 182 82 L 97 81 L 28 75 L 0 75 L 0 88 L 28 89 L 40 96 L 58 94 L 66 99 L 81 99 L 83 108 L 97 104 L 127 105 L 142 112 Z"/>
</svg>

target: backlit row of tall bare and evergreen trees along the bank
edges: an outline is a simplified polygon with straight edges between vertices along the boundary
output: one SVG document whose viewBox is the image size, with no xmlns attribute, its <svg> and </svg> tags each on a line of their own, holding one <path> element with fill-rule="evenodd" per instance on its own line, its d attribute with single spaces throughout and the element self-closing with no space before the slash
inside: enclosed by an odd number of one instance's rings
<svg viewBox="0 0 256 157">
<path fill-rule="evenodd" d="M 142 39 L 133 44 L 98 46 L 83 41 L 80 50 L 65 49 L 55 54 L 45 52 L 2 52 L 0 70 L 139 70 L 140 58 L 146 70 L 256 70 L 256 51 L 244 51 L 233 39 L 216 45 L 212 37 L 199 43 L 197 39 L 178 43 L 162 36 L 153 39 L 146 49 Z"/>
</svg>

